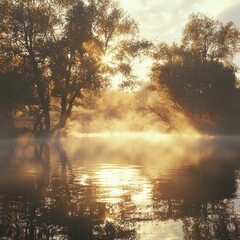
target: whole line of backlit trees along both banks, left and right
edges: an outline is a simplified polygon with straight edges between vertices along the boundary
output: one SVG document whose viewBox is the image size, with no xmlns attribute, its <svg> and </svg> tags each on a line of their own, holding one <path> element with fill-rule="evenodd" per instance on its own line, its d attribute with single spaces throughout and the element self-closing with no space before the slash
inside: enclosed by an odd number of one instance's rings
<svg viewBox="0 0 240 240">
<path fill-rule="evenodd" d="M 34 132 L 64 128 L 73 109 L 108 89 L 114 76 L 122 76 L 121 88 L 134 88 L 139 57 L 153 59 L 149 82 L 192 117 L 239 115 L 234 23 L 192 14 L 182 43 L 171 46 L 138 33 L 115 0 L 2 0 L 0 133 L 20 118 Z"/>
</svg>

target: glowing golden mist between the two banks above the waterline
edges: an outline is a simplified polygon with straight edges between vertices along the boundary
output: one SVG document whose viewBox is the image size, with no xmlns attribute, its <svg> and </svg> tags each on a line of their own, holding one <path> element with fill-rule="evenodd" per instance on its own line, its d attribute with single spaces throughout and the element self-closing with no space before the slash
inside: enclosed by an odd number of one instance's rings
<svg viewBox="0 0 240 240">
<path fill-rule="evenodd" d="M 88 106 L 75 108 L 74 118 L 66 128 L 68 136 L 81 137 L 84 133 L 199 135 L 171 98 L 151 85 L 135 93 L 112 90 Z"/>
</svg>

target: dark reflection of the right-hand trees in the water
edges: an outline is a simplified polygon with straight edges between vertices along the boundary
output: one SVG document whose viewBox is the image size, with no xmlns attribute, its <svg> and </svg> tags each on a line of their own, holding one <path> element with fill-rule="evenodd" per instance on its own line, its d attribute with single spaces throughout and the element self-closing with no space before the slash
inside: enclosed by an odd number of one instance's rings
<svg viewBox="0 0 240 240">
<path fill-rule="evenodd" d="M 203 159 L 198 167 L 175 170 L 168 181 L 155 181 L 156 218 L 182 219 L 186 240 L 239 239 L 240 217 L 230 200 L 237 168 L 239 163 Z"/>
</svg>

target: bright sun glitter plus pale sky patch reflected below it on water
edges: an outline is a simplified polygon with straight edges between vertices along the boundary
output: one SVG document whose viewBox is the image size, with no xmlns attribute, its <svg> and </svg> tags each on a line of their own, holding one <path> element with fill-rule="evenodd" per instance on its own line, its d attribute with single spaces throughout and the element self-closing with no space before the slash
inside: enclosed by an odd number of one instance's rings
<svg viewBox="0 0 240 240">
<path fill-rule="evenodd" d="M 105 221 L 117 221 L 120 215 L 146 219 L 138 223 L 140 239 L 182 239 L 181 221 L 154 219 L 153 185 L 136 166 L 100 164 L 92 175 L 78 176 L 80 184 L 88 180 L 97 186 L 97 202 L 106 203 Z M 126 211 L 126 213 L 125 213 Z M 149 219 L 149 220 L 147 220 Z M 161 238 L 160 238 L 161 237 Z"/>
</svg>

